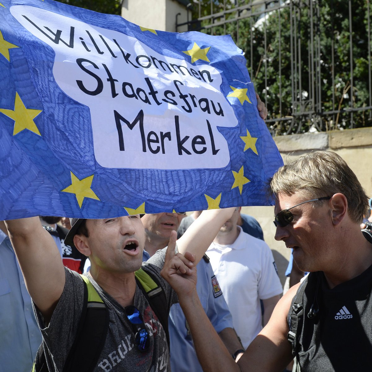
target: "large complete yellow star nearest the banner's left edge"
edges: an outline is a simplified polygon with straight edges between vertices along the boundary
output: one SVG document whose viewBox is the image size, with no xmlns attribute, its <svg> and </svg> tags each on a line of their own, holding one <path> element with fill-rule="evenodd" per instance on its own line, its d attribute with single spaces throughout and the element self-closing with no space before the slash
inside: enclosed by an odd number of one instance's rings
<svg viewBox="0 0 372 372">
<path fill-rule="evenodd" d="M 28 129 L 41 136 L 38 127 L 33 119 L 42 112 L 42 110 L 26 109 L 18 93 L 16 92 L 16 99 L 14 102 L 14 110 L 1 109 L 0 112 L 14 120 L 13 136 L 22 132 L 23 129 Z"/>
</svg>

